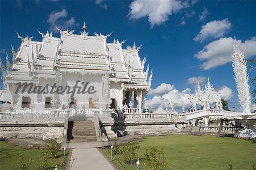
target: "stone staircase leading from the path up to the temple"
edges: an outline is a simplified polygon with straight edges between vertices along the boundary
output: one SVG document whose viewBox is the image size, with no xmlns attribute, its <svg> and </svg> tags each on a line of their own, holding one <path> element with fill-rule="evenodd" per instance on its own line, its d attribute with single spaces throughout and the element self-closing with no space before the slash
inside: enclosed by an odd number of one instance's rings
<svg viewBox="0 0 256 170">
<path fill-rule="evenodd" d="M 97 141 L 94 123 L 91 120 L 68 121 L 69 142 L 90 142 Z"/>
</svg>

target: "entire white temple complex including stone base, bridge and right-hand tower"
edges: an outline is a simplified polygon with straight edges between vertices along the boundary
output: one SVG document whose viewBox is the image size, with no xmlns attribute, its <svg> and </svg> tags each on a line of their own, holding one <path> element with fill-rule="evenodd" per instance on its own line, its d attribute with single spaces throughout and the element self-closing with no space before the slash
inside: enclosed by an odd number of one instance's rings
<svg viewBox="0 0 256 170">
<path fill-rule="evenodd" d="M 189 112 L 183 107 L 183 113 L 177 113 L 173 103 L 171 109 L 160 106 L 155 112 L 148 112 L 148 106 L 143 104 L 151 87 L 152 70 L 149 75 L 146 57 L 139 57 L 141 46 L 134 44 L 122 49 L 125 41 L 114 39 L 108 43 L 111 34 L 89 36 L 85 23 L 82 29 L 76 35 L 74 31 L 57 28 L 60 38 L 38 31 L 42 42 L 17 33 L 22 43 L 18 52 L 12 48 L 13 63 L 7 55 L 6 70 L 1 65 L 6 90 L 0 90 L 0 138 L 102 141 L 105 137 L 127 133 L 180 133 L 189 130 L 187 125 L 192 125 L 190 130 L 194 132 L 216 133 L 223 120 L 230 121 L 224 129 L 232 129 L 237 128 L 232 122 L 247 121 L 248 116 L 251 124 L 243 123 L 245 129 L 241 133 L 238 129 L 237 136 L 248 137 L 246 127 L 250 126 L 249 137 L 256 137 L 245 57 L 237 46 L 233 52 L 233 69 L 242 113 L 224 111 L 221 96 L 214 91 L 209 78 L 204 89 L 198 84 L 195 94 L 189 96 Z M 100 110 L 100 114 L 98 111 L 87 114 L 85 111 L 90 109 Z M 28 110 L 37 113 L 8 112 Z M 95 131 L 86 130 L 88 127 L 94 127 Z"/>
</svg>

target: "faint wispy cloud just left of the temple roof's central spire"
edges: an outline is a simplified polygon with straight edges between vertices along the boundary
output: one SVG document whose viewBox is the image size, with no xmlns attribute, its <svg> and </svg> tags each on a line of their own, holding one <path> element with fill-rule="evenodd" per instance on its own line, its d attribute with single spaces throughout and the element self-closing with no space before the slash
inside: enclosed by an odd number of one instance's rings
<svg viewBox="0 0 256 170">
<path fill-rule="evenodd" d="M 55 29 L 55 25 L 61 29 L 71 29 L 79 25 L 78 23 L 76 23 L 75 17 L 71 17 L 70 19 L 67 19 L 67 16 L 68 16 L 68 12 L 65 9 L 61 11 L 52 12 L 49 15 L 47 20 L 50 26 L 49 29 L 56 33 L 57 29 Z"/>
</svg>

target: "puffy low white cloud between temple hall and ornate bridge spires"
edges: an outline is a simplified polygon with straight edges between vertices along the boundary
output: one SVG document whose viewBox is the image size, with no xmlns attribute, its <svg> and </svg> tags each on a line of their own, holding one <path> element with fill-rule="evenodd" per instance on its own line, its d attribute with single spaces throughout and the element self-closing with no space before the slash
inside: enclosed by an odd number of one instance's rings
<svg viewBox="0 0 256 170">
<path fill-rule="evenodd" d="M 161 94 L 157 94 L 154 97 L 152 97 L 152 99 L 148 99 L 145 101 L 145 105 L 148 105 L 148 107 L 150 108 L 150 110 L 155 110 L 157 109 L 160 105 L 162 105 L 164 108 L 166 108 L 168 106 L 168 103 L 173 103 L 175 108 L 181 108 L 183 105 L 185 107 L 189 107 L 189 100 L 188 100 L 188 96 L 189 96 L 189 88 L 186 88 L 183 91 L 179 91 L 176 88 L 174 88 L 174 85 L 171 84 L 165 84 L 164 85 L 160 85 L 159 87 L 168 87 L 168 90 L 159 90 L 161 91 Z M 171 87 L 171 88 L 170 88 Z M 156 88 L 156 89 L 158 89 Z M 155 89 L 155 90 L 156 90 Z M 166 89 L 166 88 L 163 88 Z M 154 91 L 154 90 L 152 90 Z M 166 91 L 166 93 L 163 94 L 163 92 Z"/>
</svg>

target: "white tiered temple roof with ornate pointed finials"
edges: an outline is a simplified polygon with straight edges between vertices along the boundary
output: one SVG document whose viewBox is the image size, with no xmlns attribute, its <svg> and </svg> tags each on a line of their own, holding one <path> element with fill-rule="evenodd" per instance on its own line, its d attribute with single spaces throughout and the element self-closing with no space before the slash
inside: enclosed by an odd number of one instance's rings
<svg viewBox="0 0 256 170">
<path fill-rule="evenodd" d="M 101 72 L 108 71 L 110 81 L 122 82 L 124 88 L 150 87 L 147 82 L 148 67 L 144 71 L 146 58 L 141 61 L 139 49 L 135 44 L 122 49 L 125 41 L 114 40 L 107 43 L 111 35 L 94 33 L 89 36 L 83 27 L 81 35 L 74 31 L 60 31 L 60 38 L 53 37 L 52 33 L 42 35 L 42 42 L 32 41 L 32 37 L 22 38 L 18 52 L 13 52 L 14 63 L 7 68 L 5 80 L 9 82 L 23 80 L 36 81 L 39 77 L 55 78 L 56 67 L 59 71 L 69 72 Z M 7 57 L 8 58 L 8 57 Z"/>
</svg>

